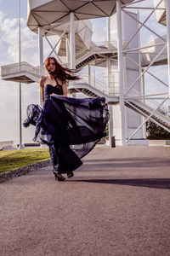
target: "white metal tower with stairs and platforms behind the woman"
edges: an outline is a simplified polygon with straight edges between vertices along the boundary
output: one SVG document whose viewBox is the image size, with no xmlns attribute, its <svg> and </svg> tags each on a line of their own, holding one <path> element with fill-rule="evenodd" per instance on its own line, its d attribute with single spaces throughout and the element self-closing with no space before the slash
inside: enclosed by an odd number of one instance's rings
<svg viewBox="0 0 170 256">
<path fill-rule="evenodd" d="M 111 110 L 110 136 L 116 136 L 116 144 L 146 144 L 144 125 L 148 119 L 170 132 L 170 120 L 161 109 L 169 98 L 169 84 L 150 72 L 150 67 L 165 63 L 170 70 L 169 1 L 153 0 L 152 7 L 146 3 L 147 0 L 28 0 L 27 26 L 38 33 L 39 68 L 26 62 L 11 64 L 2 67 L 3 79 L 37 82 L 44 73 L 44 57 L 48 57 L 43 55 L 42 38 L 45 38 L 51 47 L 49 55 L 56 56 L 64 65 L 77 70 L 88 66 L 88 73 L 70 84 L 69 91 L 105 96 Z M 142 21 L 141 10 L 148 11 Z M 147 24 L 155 13 L 157 21 L 167 25 L 165 37 Z M 95 44 L 88 19 L 99 17 L 107 17 L 107 41 Z M 154 34 L 155 39 L 142 45 L 143 28 Z M 59 36 L 54 47 L 48 40 L 52 35 Z M 107 84 L 92 76 L 91 65 L 107 68 Z M 167 92 L 146 95 L 146 73 L 166 87 Z"/>
</svg>

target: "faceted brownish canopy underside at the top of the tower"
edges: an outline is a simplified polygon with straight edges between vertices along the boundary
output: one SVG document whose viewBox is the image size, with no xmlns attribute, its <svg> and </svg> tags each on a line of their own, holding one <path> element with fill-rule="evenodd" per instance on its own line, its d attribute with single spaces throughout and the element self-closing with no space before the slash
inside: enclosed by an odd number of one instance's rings
<svg viewBox="0 0 170 256">
<path fill-rule="evenodd" d="M 116 13 L 116 0 L 27 0 L 27 26 L 37 32 L 37 27 L 66 23 L 73 12 L 75 20 L 109 17 Z M 122 4 L 134 0 L 123 0 Z"/>
</svg>

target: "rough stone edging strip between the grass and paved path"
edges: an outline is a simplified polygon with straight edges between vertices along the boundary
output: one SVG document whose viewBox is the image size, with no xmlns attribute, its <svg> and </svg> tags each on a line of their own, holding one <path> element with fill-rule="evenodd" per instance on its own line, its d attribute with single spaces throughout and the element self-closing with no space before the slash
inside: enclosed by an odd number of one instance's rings
<svg viewBox="0 0 170 256">
<path fill-rule="evenodd" d="M 38 162 L 36 164 L 30 165 L 30 166 L 24 166 L 20 169 L 6 172 L 0 175 L 0 183 L 3 183 L 5 181 L 8 181 L 9 179 L 12 179 L 13 177 L 19 177 L 21 175 L 25 175 L 28 172 L 35 171 L 39 168 L 49 166 L 51 164 L 51 160 L 45 160 L 42 162 Z"/>
</svg>

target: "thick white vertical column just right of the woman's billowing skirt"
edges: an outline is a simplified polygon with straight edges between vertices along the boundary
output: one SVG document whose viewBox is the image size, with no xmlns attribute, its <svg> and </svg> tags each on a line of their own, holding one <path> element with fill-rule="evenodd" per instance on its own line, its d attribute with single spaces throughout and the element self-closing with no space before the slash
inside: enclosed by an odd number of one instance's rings
<svg viewBox="0 0 170 256">
<path fill-rule="evenodd" d="M 121 109 L 121 125 L 122 125 L 122 145 L 126 144 L 125 130 L 125 105 L 124 105 L 124 79 L 123 79 L 123 56 L 122 56 L 122 8 L 121 1 L 116 0 L 117 12 L 117 53 L 118 53 L 118 71 L 119 71 L 119 99 Z"/>
</svg>

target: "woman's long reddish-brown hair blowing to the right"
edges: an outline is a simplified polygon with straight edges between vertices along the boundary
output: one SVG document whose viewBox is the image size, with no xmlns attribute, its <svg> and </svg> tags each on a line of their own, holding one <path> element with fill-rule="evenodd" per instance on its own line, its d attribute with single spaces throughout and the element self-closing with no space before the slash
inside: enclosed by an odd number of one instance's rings
<svg viewBox="0 0 170 256">
<path fill-rule="evenodd" d="M 55 63 L 55 70 L 54 72 L 51 72 L 48 69 L 50 61 L 54 61 Z M 59 79 L 60 81 L 66 81 L 66 80 L 77 80 L 80 79 L 76 72 L 68 67 L 63 67 L 59 64 L 59 62 L 54 57 L 48 57 L 45 61 L 45 67 L 48 70 L 48 73 L 54 77 L 55 80 Z"/>
</svg>

